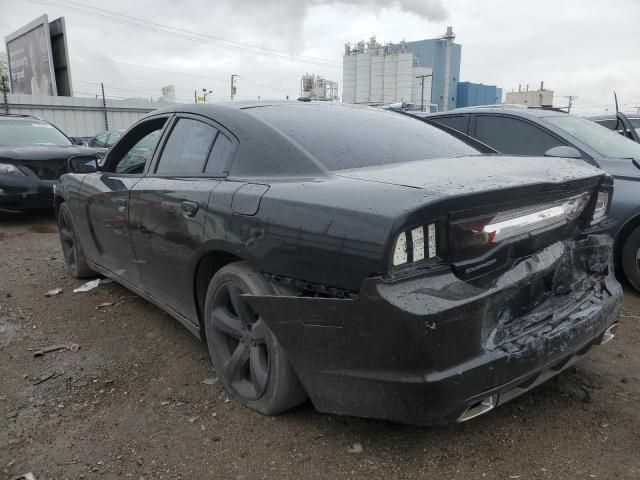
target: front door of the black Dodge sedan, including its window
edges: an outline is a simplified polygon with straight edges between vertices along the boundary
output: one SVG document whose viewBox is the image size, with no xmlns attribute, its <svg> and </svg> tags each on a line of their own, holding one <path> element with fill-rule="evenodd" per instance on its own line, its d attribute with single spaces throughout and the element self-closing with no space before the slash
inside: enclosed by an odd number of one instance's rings
<svg viewBox="0 0 640 480">
<path fill-rule="evenodd" d="M 129 230 L 129 192 L 150 165 L 167 120 L 155 117 L 134 127 L 81 186 L 87 222 L 79 228 L 87 239 L 87 257 L 134 285 L 140 284 L 140 274 Z"/>
</svg>

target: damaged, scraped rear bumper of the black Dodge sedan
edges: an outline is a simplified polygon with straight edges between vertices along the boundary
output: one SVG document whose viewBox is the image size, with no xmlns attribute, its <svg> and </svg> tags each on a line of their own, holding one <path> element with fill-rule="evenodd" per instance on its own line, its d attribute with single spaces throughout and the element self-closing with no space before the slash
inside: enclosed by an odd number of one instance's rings
<svg viewBox="0 0 640 480">
<path fill-rule="evenodd" d="M 367 279 L 355 299 L 257 297 L 323 412 L 463 421 L 575 362 L 616 322 L 612 241 L 558 242 L 490 285 L 451 272 Z"/>
</svg>

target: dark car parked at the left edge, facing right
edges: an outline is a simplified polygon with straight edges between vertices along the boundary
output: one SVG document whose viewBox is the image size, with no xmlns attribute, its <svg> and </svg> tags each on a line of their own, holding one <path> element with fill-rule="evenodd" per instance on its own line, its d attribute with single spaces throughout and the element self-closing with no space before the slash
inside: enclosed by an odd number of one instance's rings
<svg viewBox="0 0 640 480">
<path fill-rule="evenodd" d="M 53 207 L 53 185 L 74 155 L 99 150 L 73 145 L 49 122 L 0 114 L 0 211 Z"/>
</svg>

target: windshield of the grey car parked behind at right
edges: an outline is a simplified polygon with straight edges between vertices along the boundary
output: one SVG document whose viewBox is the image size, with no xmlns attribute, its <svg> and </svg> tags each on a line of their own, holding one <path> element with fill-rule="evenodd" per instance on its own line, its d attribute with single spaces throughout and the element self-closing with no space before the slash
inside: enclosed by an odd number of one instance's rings
<svg viewBox="0 0 640 480">
<path fill-rule="evenodd" d="M 593 148 L 603 157 L 640 158 L 640 144 L 595 122 L 572 115 L 546 117 L 546 120 Z"/>
</svg>

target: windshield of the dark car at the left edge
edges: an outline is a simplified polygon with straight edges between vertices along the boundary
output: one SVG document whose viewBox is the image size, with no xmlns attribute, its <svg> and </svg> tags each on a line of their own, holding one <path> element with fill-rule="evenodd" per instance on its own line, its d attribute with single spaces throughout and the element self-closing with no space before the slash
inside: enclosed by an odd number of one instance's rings
<svg viewBox="0 0 640 480">
<path fill-rule="evenodd" d="M 71 140 L 47 122 L 37 120 L 0 121 L 0 146 L 71 145 Z"/>
</svg>

